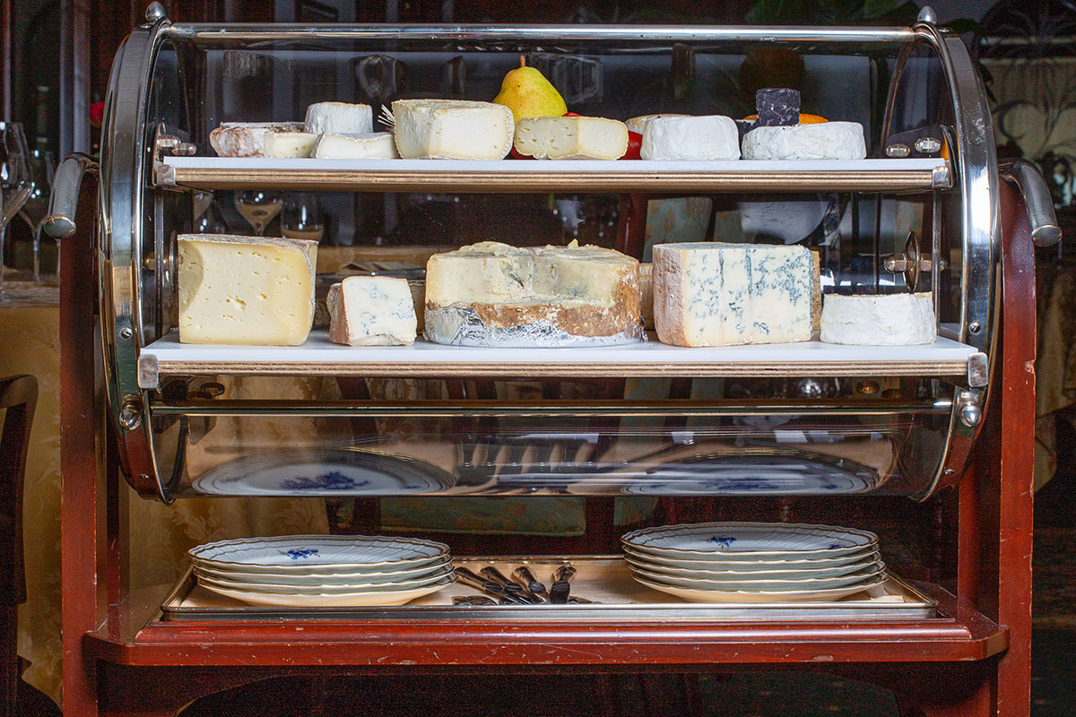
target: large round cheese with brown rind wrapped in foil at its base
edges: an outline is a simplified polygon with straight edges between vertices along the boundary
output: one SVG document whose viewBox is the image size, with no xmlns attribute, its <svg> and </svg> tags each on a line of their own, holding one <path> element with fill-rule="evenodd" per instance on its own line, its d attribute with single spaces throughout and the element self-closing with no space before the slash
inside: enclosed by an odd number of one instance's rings
<svg viewBox="0 0 1076 717">
<path fill-rule="evenodd" d="M 639 262 L 596 246 L 480 242 L 426 264 L 425 336 L 462 346 L 645 340 Z"/>
</svg>

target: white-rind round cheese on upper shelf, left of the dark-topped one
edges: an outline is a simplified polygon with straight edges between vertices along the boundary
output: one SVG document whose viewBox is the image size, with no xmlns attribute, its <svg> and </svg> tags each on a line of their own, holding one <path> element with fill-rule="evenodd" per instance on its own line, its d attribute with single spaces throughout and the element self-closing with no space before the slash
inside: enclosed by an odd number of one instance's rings
<svg viewBox="0 0 1076 717">
<path fill-rule="evenodd" d="M 739 159 L 739 131 L 732 117 L 655 117 L 647 123 L 643 159 Z"/>
</svg>

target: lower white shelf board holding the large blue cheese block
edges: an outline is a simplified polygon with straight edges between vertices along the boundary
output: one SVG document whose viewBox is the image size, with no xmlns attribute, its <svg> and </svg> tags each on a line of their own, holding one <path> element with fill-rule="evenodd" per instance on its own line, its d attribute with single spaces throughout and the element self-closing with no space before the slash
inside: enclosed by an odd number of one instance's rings
<svg viewBox="0 0 1076 717">
<path fill-rule="evenodd" d="M 938 338 L 921 346 L 841 346 L 817 340 L 683 348 L 650 341 L 578 348 L 471 348 L 419 340 L 413 346 L 351 347 L 325 330 L 301 346 L 181 344 L 176 332 L 142 349 L 139 385 L 156 388 L 161 374 L 336 375 L 410 377 L 628 376 L 937 376 L 968 375 L 986 357 L 972 346 Z"/>
</svg>

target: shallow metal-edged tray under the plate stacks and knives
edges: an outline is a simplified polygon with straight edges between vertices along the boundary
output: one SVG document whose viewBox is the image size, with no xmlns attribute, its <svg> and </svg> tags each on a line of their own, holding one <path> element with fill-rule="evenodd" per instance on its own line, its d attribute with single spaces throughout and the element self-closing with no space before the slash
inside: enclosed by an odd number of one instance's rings
<svg viewBox="0 0 1076 717">
<path fill-rule="evenodd" d="M 571 594 L 600 604 L 568 605 L 453 605 L 456 596 L 478 591 L 462 583 L 398 607 L 261 607 L 217 596 L 197 584 L 187 572 L 161 603 L 160 618 L 170 621 L 280 620 L 280 619 L 458 619 L 458 620 L 826 620 L 922 619 L 936 616 L 937 603 L 900 578 L 889 575 L 880 586 L 833 602 L 775 602 L 760 604 L 693 603 L 640 585 L 620 556 L 453 558 L 453 563 L 479 571 L 494 565 L 506 575 L 518 565 L 529 565 L 546 580 L 565 562 L 576 567 Z"/>
</svg>

